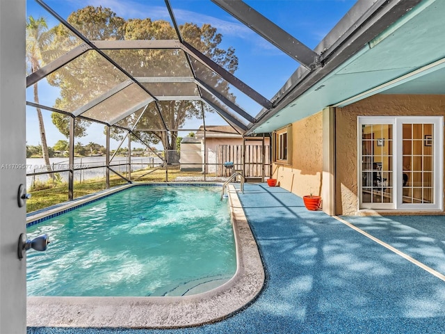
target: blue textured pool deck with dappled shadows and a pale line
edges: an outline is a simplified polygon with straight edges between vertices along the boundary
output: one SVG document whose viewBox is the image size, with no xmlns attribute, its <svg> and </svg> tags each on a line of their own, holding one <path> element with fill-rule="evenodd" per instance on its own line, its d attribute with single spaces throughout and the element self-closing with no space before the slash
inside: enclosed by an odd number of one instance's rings
<svg viewBox="0 0 445 334">
<path fill-rule="evenodd" d="M 191 328 L 28 333 L 445 333 L 445 216 L 337 219 L 267 184 L 238 196 L 266 271 L 241 310 Z"/>
</svg>

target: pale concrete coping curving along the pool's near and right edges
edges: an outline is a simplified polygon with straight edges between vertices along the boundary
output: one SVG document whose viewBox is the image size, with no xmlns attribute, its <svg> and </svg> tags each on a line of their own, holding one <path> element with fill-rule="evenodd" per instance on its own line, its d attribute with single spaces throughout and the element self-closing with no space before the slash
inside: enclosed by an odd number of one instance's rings
<svg viewBox="0 0 445 334">
<path fill-rule="evenodd" d="M 237 190 L 232 184 L 227 188 L 236 244 L 236 273 L 227 283 L 180 297 L 30 296 L 26 303 L 27 326 L 182 328 L 220 321 L 245 307 L 261 292 L 264 268 Z"/>
</svg>

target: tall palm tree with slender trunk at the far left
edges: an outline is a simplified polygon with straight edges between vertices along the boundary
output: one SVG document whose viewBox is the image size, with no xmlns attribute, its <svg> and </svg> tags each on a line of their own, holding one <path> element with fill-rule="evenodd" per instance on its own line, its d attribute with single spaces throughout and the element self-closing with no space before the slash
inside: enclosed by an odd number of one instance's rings
<svg viewBox="0 0 445 334">
<path fill-rule="evenodd" d="M 34 19 L 32 15 L 30 15 L 26 22 L 26 62 L 29 73 L 33 73 L 40 68 L 42 63 L 42 53 L 45 49 L 47 49 L 50 42 L 51 32 L 48 31 L 46 20 L 43 17 Z M 37 82 L 33 85 L 33 88 L 34 102 L 39 104 Z M 47 136 L 44 131 L 44 122 L 40 108 L 37 108 L 37 116 L 39 120 L 40 141 L 42 143 L 44 164 L 46 165 L 47 170 L 51 170 L 51 165 L 49 164 Z"/>
</svg>

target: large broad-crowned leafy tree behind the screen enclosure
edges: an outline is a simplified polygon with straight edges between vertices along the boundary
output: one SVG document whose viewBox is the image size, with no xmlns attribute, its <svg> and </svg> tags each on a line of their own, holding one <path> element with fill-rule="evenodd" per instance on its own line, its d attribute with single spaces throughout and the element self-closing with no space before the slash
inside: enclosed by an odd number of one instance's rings
<svg viewBox="0 0 445 334">
<path fill-rule="evenodd" d="M 67 21 L 76 29 L 79 29 L 90 40 L 152 40 L 152 39 L 177 39 L 175 29 L 169 22 L 152 19 L 128 19 L 127 21 L 117 17 L 109 8 L 87 6 L 72 13 Z M 195 48 L 202 51 L 219 65 L 234 73 L 238 67 L 238 58 L 234 49 L 218 48 L 222 35 L 209 24 L 197 26 L 186 23 L 180 26 L 181 34 Z M 63 40 L 63 29 L 56 29 L 56 40 L 63 45 L 70 43 Z M 133 77 L 166 77 L 191 75 L 186 57 L 177 49 L 136 49 L 136 50 L 108 50 L 111 58 L 119 63 Z M 115 88 L 126 80 L 122 73 L 113 69 L 113 66 L 104 62 L 104 59 L 96 52 L 89 51 L 79 56 L 75 61 L 65 66 L 70 74 L 60 77 L 58 71 L 51 80 L 51 84 L 60 87 L 60 99 L 56 101 L 56 107 L 66 111 L 73 111 L 79 106 L 87 104 L 106 91 Z M 229 94 L 229 86 L 218 75 L 208 70 L 207 67 L 197 64 L 196 73 L 204 77 L 207 84 L 213 86 L 221 93 L 234 100 Z M 60 74 L 61 75 L 61 74 Z M 63 80 L 62 80 L 63 79 Z M 196 88 L 184 84 L 148 84 L 150 93 L 159 95 L 174 93 L 172 95 L 196 95 Z M 191 89 L 193 92 L 191 92 Z M 169 91 L 171 90 L 171 91 Z M 113 113 L 113 105 L 95 107 L 95 117 L 110 120 Z M 135 125 L 144 109 L 128 116 L 119 122 L 122 127 L 131 128 Z M 162 115 L 162 116 L 161 116 Z M 165 150 L 177 148 L 177 129 L 180 129 L 187 119 L 202 118 L 202 106 L 196 101 L 162 101 L 152 102 L 147 106 L 144 114 L 134 131 L 136 136 L 145 143 L 156 144 L 161 142 Z M 64 118 L 66 116 L 58 116 Z M 57 121 L 56 126 L 67 129 L 67 123 Z M 166 128 L 169 131 L 166 131 Z M 127 133 L 122 129 L 112 128 L 112 138 L 122 139 Z M 63 132 L 63 130 L 60 130 Z M 64 130 L 65 131 L 65 130 Z M 66 133 L 63 132 L 63 133 Z"/>
</svg>

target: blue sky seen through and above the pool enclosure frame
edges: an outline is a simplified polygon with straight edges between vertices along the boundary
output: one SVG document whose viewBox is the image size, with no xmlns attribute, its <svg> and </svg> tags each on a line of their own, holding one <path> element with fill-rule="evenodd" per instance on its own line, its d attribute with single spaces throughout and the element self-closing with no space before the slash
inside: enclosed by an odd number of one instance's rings
<svg viewBox="0 0 445 334">
<path fill-rule="evenodd" d="M 44 2 L 64 19 L 67 19 L 70 13 L 85 6 L 102 6 L 111 8 L 114 13 L 124 19 L 150 17 L 153 20 L 165 19 L 170 22 L 170 16 L 163 0 L 47 0 Z M 314 49 L 357 1 L 245 0 L 244 2 L 307 47 Z M 282 88 L 299 66 L 299 63 L 293 58 L 238 22 L 232 15 L 210 0 L 170 0 L 170 4 L 178 24 L 193 22 L 202 26 L 204 23 L 209 23 L 216 27 L 217 32 L 223 35 L 223 41 L 219 47 L 235 49 L 235 54 L 238 57 L 238 70 L 236 70 L 235 76 L 269 100 Z M 26 17 L 29 15 L 35 19 L 44 17 L 49 27 L 59 23 L 34 0 L 26 1 Z M 232 91 L 236 95 L 236 103 L 250 115 L 257 116 L 261 111 L 261 106 L 233 88 Z M 54 106 L 58 95 L 57 88 L 49 86 L 46 80 L 39 81 L 40 104 Z M 32 87 L 26 90 L 26 100 L 33 101 Z M 60 139 L 67 140 L 52 124 L 51 112 L 42 110 L 42 113 L 48 145 L 52 147 Z M 218 125 L 223 124 L 216 115 L 206 119 L 206 125 L 217 125 L 217 123 Z M 179 134 L 179 136 L 185 135 Z M 35 109 L 32 107 L 27 107 L 26 112 L 26 142 L 28 145 L 40 145 L 38 119 Z M 90 142 L 105 145 L 104 126 L 90 126 L 88 136 L 76 138 L 77 142 L 81 142 L 83 145 Z M 112 140 L 111 148 L 114 149 L 117 146 L 118 142 Z M 136 143 L 132 144 L 132 147 L 143 146 Z"/>
</svg>

